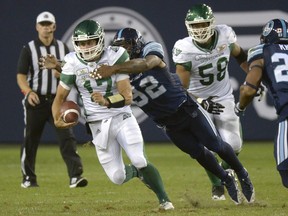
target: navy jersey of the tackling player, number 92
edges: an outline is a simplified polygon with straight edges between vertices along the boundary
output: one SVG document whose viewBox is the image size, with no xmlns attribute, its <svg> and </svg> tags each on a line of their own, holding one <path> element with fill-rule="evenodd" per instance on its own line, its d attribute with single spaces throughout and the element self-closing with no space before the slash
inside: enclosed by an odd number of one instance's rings
<svg viewBox="0 0 288 216">
<path fill-rule="evenodd" d="M 163 59 L 162 46 L 156 42 L 147 43 L 141 57 L 151 54 Z M 130 79 L 134 102 L 153 120 L 174 114 L 187 101 L 186 90 L 177 74 L 170 73 L 167 67 L 133 74 Z"/>
</svg>

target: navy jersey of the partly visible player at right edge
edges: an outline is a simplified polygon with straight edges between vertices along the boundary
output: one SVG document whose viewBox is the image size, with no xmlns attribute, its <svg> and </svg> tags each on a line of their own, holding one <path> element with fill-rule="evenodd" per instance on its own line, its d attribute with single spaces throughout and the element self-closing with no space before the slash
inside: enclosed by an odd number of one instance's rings
<svg viewBox="0 0 288 216">
<path fill-rule="evenodd" d="M 249 50 L 248 64 L 264 59 L 262 82 L 273 98 L 279 120 L 288 116 L 288 45 L 258 45 Z"/>
</svg>

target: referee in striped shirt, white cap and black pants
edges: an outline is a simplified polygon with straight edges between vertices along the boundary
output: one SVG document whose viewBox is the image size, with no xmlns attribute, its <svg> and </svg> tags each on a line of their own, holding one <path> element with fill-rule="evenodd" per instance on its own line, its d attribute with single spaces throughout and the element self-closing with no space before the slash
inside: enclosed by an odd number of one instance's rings
<svg viewBox="0 0 288 216">
<path fill-rule="evenodd" d="M 35 172 L 36 154 L 40 138 L 49 122 L 56 131 L 60 152 L 66 163 L 70 188 L 84 187 L 87 180 L 81 175 L 83 167 L 77 154 L 72 129 L 57 129 L 51 112 L 51 106 L 56 94 L 60 73 L 56 70 L 40 69 L 38 59 L 47 54 L 53 54 L 62 60 L 69 52 L 68 47 L 54 38 L 56 30 L 55 17 L 50 12 L 40 13 L 36 19 L 38 38 L 25 45 L 20 53 L 17 66 L 17 83 L 24 94 L 24 142 L 21 146 L 22 188 L 38 187 Z M 53 172 L 53 168 L 51 168 Z"/>
</svg>

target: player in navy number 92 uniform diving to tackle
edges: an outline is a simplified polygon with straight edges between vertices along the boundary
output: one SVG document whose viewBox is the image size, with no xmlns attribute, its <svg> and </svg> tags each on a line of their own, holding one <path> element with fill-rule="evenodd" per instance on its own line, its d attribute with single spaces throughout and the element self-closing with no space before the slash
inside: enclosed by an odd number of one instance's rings
<svg viewBox="0 0 288 216">
<path fill-rule="evenodd" d="M 244 197 L 252 203 L 255 193 L 248 172 L 231 146 L 221 139 L 201 106 L 187 94 L 177 74 L 168 71 L 161 44 L 145 43 L 139 31 L 124 28 L 116 33 L 113 45 L 126 48 L 132 60 L 113 66 L 102 65 L 91 76 L 101 80 L 112 74 L 130 74 L 136 105 L 164 129 L 178 148 L 221 179 L 231 199 L 239 204 L 241 199 L 233 173 L 225 171 L 209 150 L 217 152 L 235 170 Z"/>
</svg>

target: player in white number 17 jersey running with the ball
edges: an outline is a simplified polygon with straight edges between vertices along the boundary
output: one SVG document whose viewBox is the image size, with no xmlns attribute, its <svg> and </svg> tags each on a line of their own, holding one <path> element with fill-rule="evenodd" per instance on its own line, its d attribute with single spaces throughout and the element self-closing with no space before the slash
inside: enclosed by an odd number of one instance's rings
<svg viewBox="0 0 288 216">
<path fill-rule="evenodd" d="M 104 48 L 104 30 L 94 20 L 84 20 L 75 27 L 72 43 L 75 52 L 64 58 L 52 106 L 55 125 L 59 128 L 74 125 L 63 121 L 60 106 L 71 88 L 76 87 L 83 101 L 98 159 L 109 179 L 121 185 L 138 177 L 157 195 L 160 210 L 173 210 L 158 170 L 144 154 L 142 133 L 130 108 L 129 76 L 116 74 L 98 80 L 89 76 L 89 72 L 101 64 L 113 65 L 129 60 L 127 51 L 115 46 Z M 121 149 L 130 159 L 130 165 L 124 164 Z"/>
</svg>

